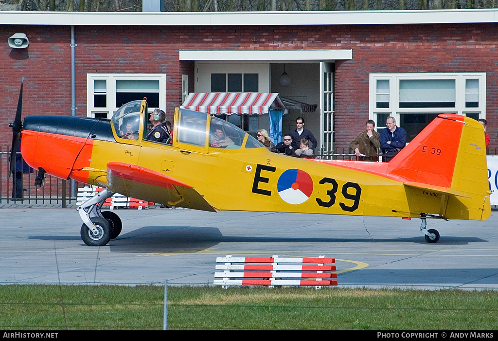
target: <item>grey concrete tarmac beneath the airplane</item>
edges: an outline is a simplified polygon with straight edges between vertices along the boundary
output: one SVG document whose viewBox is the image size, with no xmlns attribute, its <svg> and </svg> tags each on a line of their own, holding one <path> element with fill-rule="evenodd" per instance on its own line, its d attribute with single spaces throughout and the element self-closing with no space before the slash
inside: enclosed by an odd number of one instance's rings
<svg viewBox="0 0 498 341">
<path fill-rule="evenodd" d="M 485 222 L 182 209 L 114 210 L 123 231 L 80 237 L 75 208 L 0 208 L 0 284 L 212 285 L 216 257 L 336 258 L 339 287 L 498 289 L 498 212 Z M 5 208 L 7 207 L 7 208 Z"/>
</svg>

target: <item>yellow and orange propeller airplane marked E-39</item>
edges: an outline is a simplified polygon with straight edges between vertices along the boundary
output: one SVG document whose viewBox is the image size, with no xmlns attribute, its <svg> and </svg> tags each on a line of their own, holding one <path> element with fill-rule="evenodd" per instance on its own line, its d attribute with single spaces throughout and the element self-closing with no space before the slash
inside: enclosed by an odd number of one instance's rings
<svg viewBox="0 0 498 341">
<path fill-rule="evenodd" d="M 385 163 L 271 153 L 231 123 L 185 109 L 175 110 L 170 143 L 149 141 L 145 99 L 111 119 L 28 115 L 21 125 L 21 101 L 22 86 L 12 150 L 22 130 L 22 156 L 41 175 L 105 188 L 78 208 L 81 237 L 92 246 L 121 232 L 119 217 L 101 211 L 114 193 L 210 212 L 421 218 L 430 243 L 439 233 L 426 229 L 427 218 L 491 214 L 483 126 L 462 115 L 440 114 Z"/>
</svg>

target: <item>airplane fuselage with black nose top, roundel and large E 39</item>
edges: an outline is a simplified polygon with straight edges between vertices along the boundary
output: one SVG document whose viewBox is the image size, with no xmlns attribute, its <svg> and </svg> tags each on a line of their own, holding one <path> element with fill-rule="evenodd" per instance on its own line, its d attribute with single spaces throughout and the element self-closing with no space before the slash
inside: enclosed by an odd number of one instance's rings
<svg viewBox="0 0 498 341">
<path fill-rule="evenodd" d="M 34 123 L 37 119 L 42 123 Z M 107 164 L 122 162 L 191 185 L 217 210 L 418 217 L 420 213 L 440 214 L 446 204 L 440 193 L 406 187 L 386 176 L 271 153 L 266 148 L 118 142 L 107 120 L 95 123 L 72 117 L 59 123 L 58 130 L 41 131 L 48 125 L 46 120 L 50 118 L 28 116 L 25 121 L 21 146 L 26 162 L 48 174 L 91 185 L 105 187 Z M 87 120 L 80 123 L 80 133 L 77 128 L 60 128 L 74 124 L 73 120 Z M 138 199 L 166 204 L 170 198 L 151 189 L 146 198 Z"/>
</svg>

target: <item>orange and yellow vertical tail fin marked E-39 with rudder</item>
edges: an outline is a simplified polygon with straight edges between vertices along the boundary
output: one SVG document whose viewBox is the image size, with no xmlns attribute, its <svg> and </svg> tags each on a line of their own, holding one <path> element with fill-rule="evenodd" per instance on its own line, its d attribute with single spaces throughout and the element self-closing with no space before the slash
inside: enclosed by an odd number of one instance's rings
<svg viewBox="0 0 498 341">
<path fill-rule="evenodd" d="M 389 162 L 387 173 L 407 186 L 438 191 L 444 218 L 486 220 L 491 214 L 487 168 L 482 124 L 440 114 Z"/>
</svg>

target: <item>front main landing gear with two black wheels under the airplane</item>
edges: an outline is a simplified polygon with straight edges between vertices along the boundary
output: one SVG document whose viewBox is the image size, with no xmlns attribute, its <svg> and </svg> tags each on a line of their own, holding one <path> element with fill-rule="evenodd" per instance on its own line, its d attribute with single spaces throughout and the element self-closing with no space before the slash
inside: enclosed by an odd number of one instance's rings
<svg viewBox="0 0 498 341">
<path fill-rule="evenodd" d="M 102 212 L 100 209 L 106 199 L 113 194 L 106 188 L 78 207 L 78 213 L 83 221 L 80 234 L 85 244 L 104 246 L 109 240 L 120 235 L 123 227 L 120 217 L 114 212 Z"/>
</svg>

